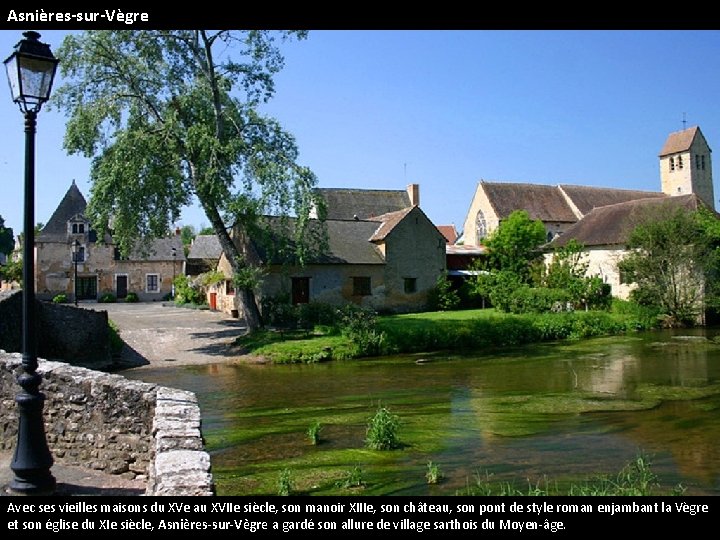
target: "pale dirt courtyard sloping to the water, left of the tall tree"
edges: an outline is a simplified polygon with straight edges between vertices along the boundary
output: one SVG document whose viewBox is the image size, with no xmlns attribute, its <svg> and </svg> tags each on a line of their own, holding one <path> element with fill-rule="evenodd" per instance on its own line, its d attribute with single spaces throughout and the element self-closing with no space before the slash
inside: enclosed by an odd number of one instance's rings
<svg viewBox="0 0 720 540">
<path fill-rule="evenodd" d="M 122 363 L 127 367 L 168 367 L 211 364 L 236 358 L 228 351 L 245 332 L 243 321 L 224 313 L 167 306 L 161 303 L 87 304 L 106 310 L 120 328 L 127 346 Z"/>
</svg>

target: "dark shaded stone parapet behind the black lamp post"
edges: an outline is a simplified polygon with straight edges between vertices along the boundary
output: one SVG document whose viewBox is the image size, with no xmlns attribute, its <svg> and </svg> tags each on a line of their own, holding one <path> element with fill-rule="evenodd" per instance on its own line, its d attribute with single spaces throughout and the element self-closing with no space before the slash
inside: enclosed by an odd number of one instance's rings
<svg viewBox="0 0 720 540">
<path fill-rule="evenodd" d="M 106 311 L 37 303 L 38 356 L 74 365 L 107 368 L 111 363 Z M 0 293 L 0 349 L 21 350 L 22 291 Z"/>
</svg>

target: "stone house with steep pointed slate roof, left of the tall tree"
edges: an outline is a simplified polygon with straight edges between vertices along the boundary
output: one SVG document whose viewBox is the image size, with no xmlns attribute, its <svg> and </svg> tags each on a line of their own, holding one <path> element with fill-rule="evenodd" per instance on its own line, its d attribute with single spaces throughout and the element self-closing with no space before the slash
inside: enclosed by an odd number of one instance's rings
<svg viewBox="0 0 720 540">
<path fill-rule="evenodd" d="M 75 185 L 68 189 L 47 225 L 35 238 L 35 290 L 42 300 L 58 294 L 98 300 L 111 293 L 122 299 L 134 292 L 143 301 L 161 300 L 182 273 L 185 255 L 179 236 L 136 246 L 123 257 L 112 238 L 98 238 L 84 215 L 87 203 Z M 77 255 L 73 254 L 77 242 Z M 77 257 L 77 280 L 75 260 Z"/>
</svg>

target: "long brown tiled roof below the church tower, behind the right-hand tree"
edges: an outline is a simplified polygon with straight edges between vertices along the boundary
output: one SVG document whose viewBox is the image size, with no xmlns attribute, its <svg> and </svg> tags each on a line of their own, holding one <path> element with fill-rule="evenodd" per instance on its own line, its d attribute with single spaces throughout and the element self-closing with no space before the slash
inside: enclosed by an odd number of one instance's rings
<svg viewBox="0 0 720 540">
<path fill-rule="evenodd" d="M 630 233 L 649 209 L 662 208 L 666 205 L 670 211 L 676 208 L 697 210 L 702 204 L 697 195 L 690 194 L 639 199 L 602 206 L 592 210 L 547 246 L 562 247 L 573 239 L 586 247 L 623 245 L 627 243 Z"/>
</svg>

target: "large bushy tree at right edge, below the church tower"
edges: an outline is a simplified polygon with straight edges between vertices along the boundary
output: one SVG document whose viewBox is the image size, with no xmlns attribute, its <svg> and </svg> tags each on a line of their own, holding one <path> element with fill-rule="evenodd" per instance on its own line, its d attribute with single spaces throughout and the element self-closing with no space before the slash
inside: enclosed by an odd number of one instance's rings
<svg viewBox="0 0 720 540">
<path fill-rule="evenodd" d="M 720 226 L 708 210 L 661 207 L 642 217 L 619 263 L 632 297 L 663 310 L 669 325 L 697 322 L 705 305 L 717 305 Z"/>
</svg>

